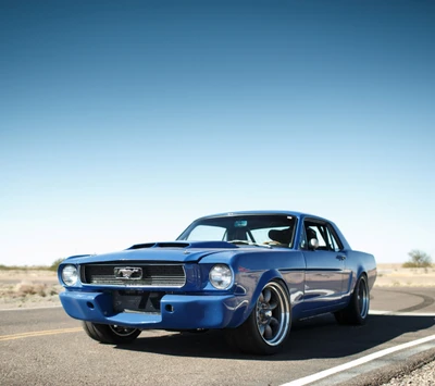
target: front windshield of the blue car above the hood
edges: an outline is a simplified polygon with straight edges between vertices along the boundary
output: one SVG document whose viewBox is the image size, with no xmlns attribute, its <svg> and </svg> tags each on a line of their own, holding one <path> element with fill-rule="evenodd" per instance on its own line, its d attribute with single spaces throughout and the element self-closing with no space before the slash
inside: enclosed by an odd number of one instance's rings
<svg viewBox="0 0 435 386">
<path fill-rule="evenodd" d="M 283 214 L 251 214 L 208 217 L 194 222 L 178 240 L 247 241 L 291 248 L 296 217 Z"/>
</svg>

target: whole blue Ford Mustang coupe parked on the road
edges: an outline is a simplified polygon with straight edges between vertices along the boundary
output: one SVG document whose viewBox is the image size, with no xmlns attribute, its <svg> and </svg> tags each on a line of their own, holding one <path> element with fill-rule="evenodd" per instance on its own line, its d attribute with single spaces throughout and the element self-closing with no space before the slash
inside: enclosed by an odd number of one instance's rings
<svg viewBox="0 0 435 386">
<path fill-rule="evenodd" d="M 286 211 L 210 215 L 176 241 L 59 266 L 62 306 L 92 339 L 222 328 L 231 345 L 258 354 L 279 350 L 297 319 L 333 312 L 338 323 L 363 324 L 375 278 L 373 256 L 352 250 L 333 222 Z"/>
</svg>

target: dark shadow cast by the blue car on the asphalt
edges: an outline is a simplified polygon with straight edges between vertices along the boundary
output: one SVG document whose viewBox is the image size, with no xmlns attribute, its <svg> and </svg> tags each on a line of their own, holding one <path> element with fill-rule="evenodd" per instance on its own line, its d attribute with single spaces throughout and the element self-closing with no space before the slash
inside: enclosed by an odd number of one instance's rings
<svg viewBox="0 0 435 386">
<path fill-rule="evenodd" d="M 130 345 L 116 349 L 154 352 L 166 356 L 224 358 L 270 361 L 344 358 L 352 356 L 403 334 L 433 327 L 434 316 L 370 315 L 362 326 L 338 325 L 332 314 L 294 323 L 289 339 L 275 356 L 259 357 L 235 351 L 225 341 L 222 331 L 179 333 L 152 336 L 144 332 Z"/>
</svg>

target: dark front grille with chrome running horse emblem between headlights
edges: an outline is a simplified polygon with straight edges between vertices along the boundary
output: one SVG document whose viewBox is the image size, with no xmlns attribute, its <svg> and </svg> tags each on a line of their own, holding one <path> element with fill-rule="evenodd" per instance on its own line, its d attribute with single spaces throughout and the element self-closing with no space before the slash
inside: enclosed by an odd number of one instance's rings
<svg viewBox="0 0 435 386">
<path fill-rule="evenodd" d="M 116 270 L 115 270 L 116 269 Z M 133 274 L 130 278 L 119 277 L 121 270 L 141 269 L 141 277 Z M 125 262 L 115 264 L 86 264 L 82 265 L 82 283 L 109 286 L 151 286 L 151 287 L 183 287 L 186 283 L 186 273 L 179 264 L 135 264 Z"/>
</svg>

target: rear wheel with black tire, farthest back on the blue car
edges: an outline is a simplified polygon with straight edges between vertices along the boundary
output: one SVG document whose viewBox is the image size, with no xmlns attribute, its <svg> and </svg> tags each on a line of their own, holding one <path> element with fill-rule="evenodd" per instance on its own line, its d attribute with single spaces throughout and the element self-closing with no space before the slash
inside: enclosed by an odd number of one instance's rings
<svg viewBox="0 0 435 386">
<path fill-rule="evenodd" d="M 361 275 L 353 289 L 349 304 L 341 311 L 335 312 L 339 324 L 364 324 L 369 316 L 370 290 L 365 275 Z"/>
</svg>

